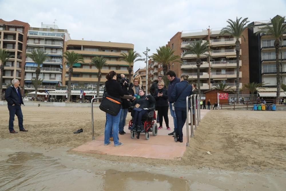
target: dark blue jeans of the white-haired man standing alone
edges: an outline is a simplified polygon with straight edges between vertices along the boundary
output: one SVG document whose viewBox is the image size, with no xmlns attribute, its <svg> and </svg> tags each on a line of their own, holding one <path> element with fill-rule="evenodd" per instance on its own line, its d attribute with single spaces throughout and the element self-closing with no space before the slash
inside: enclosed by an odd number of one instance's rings
<svg viewBox="0 0 286 191">
<path fill-rule="evenodd" d="M 15 114 L 18 117 L 19 129 L 23 130 L 23 114 L 22 114 L 21 106 L 8 105 L 8 110 L 9 110 L 9 131 L 11 132 L 14 130 Z"/>
</svg>

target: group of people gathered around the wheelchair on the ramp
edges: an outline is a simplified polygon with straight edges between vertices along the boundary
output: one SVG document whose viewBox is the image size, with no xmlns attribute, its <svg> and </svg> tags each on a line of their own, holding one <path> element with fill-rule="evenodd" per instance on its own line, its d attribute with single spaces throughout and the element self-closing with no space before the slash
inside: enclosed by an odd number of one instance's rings
<svg viewBox="0 0 286 191">
<path fill-rule="evenodd" d="M 163 76 L 159 76 L 158 81 L 152 84 L 150 94 L 146 95 L 140 75 L 135 76 L 133 83 L 130 83 L 130 85 L 123 74 L 117 75 L 116 72 L 111 71 L 106 75 L 105 91 L 107 95 L 114 98 L 121 98 L 122 109 L 116 116 L 106 113 L 104 145 L 111 144 L 112 140 L 115 147 L 123 145 L 123 143 L 119 142 L 118 134 L 125 134 L 124 126 L 128 108 L 136 104 L 138 104 L 138 107 L 134 107 L 133 123 L 129 127 L 130 130 L 134 130 L 135 128 L 137 130 L 141 129 L 142 116 L 148 112 L 148 108 L 155 104 L 157 122 L 159 123 L 158 129 L 163 128 L 164 118 L 166 129 L 171 130 L 168 119 L 168 110 L 170 109 L 170 114 L 174 121 L 174 130 L 168 135 L 173 135 L 176 142 L 183 142 L 182 128 L 187 117 L 186 96 L 198 94 L 198 90 L 196 83 L 192 83 L 192 85 L 188 83 L 188 75 L 182 75 L 178 78 L 176 77 L 176 73 L 170 70 L 166 73 L 166 76 L 169 81 L 168 88 L 162 80 Z M 141 130 L 141 132 L 144 131 L 144 129 Z"/>
</svg>

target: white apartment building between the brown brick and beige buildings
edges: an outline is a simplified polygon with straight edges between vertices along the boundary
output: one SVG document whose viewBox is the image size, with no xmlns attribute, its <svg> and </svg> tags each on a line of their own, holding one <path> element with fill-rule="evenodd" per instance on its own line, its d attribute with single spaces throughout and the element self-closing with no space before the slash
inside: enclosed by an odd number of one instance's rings
<svg viewBox="0 0 286 191">
<path fill-rule="evenodd" d="M 70 40 L 66 29 L 59 29 L 57 25 L 41 24 L 41 28 L 30 27 L 27 33 L 27 54 L 34 50 L 43 50 L 48 58 L 41 65 L 39 78 L 43 82 L 38 91 L 55 90 L 62 85 L 64 44 Z M 36 77 L 37 64 L 26 56 L 25 64 L 25 90 L 34 91 L 31 79 Z"/>
</svg>

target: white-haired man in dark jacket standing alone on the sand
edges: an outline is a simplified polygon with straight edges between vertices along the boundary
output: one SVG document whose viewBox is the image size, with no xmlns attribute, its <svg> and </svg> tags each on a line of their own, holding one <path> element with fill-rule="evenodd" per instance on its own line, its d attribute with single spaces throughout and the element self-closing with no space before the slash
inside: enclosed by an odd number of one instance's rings
<svg viewBox="0 0 286 191">
<path fill-rule="evenodd" d="M 23 127 L 23 114 L 21 110 L 21 104 L 23 103 L 23 98 L 20 92 L 20 82 L 17 79 L 12 80 L 12 84 L 5 91 L 5 99 L 7 101 L 8 110 L 9 110 L 9 131 L 10 133 L 18 133 L 14 130 L 14 118 L 15 114 L 18 117 L 18 124 L 20 131 L 27 132 Z"/>
</svg>

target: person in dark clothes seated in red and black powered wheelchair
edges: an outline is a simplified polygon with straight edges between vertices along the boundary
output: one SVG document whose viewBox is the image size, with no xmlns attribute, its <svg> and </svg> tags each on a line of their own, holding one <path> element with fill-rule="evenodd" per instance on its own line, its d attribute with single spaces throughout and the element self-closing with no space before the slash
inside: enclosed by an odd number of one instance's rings
<svg viewBox="0 0 286 191">
<path fill-rule="evenodd" d="M 147 130 L 148 133 L 148 129 L 153 126 L 152 121 L 156 115 L 154 114 L 156 100 L 153 98 L 153 96 L 150 94 L 146 95 L 142 89 L 139 90 L 138 94 L 140 95 L 140 98 L 132 102 L 129 110 L 129 112 L 131 112 L 132 120 L 129 122 L 128 128 L 132 131 L 131 137 L 132 135 L 134 136 L 134 131 L 137 132 L 137 139 L 139 139 L 140 132 L 146 132 Z M 141 125 L 142 119 L 144 122 L 143 125 Z M 148 124 L 148 127 L 146 127 L 146 120 L 150 123 Z"/>
</svg>

